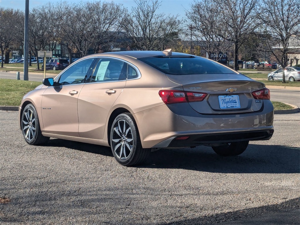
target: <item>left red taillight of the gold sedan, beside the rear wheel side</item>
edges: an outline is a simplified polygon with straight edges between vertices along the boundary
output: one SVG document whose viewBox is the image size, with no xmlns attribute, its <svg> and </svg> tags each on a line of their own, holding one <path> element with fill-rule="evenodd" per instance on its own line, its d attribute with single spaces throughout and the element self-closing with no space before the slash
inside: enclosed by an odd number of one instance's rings
<svg viewBox="0 0 300 225">
<path fill-rule="evenodd" d="M 160 90 L 158 94 L 165 104 L 200 102 L 203 101 L 207 95 L 206 93 L 177 90 Z"/>
</svg>

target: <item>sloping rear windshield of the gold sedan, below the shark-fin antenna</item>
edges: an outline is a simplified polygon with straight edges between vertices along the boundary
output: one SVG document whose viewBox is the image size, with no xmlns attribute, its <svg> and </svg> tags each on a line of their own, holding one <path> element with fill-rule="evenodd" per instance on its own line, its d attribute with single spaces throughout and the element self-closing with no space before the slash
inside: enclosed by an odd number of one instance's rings
<svg viewBox="0 0 300 225">
<path fill-rule="evenodd" d="M 234 74 L 228 67 L 202 57 L 162 56 L 139 58 L 139 60 L 163 73 L 172 75 Z"/>
</svg>

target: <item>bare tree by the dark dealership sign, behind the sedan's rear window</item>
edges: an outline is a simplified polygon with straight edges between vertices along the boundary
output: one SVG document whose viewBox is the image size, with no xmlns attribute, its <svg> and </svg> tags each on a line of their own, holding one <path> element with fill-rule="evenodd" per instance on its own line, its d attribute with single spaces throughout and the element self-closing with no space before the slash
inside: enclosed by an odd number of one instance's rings
<svg viewBox="0 0 300 225">
<path fill-rule="evenodd" d="M 229 30 L 229 24 L 224 19 L 220 2 L 216 0 L 194 1 L 190 10 L 186 11 L 187 23 L 190 34 L 197 40 L 203 40 L 203 48 L 206 52 L 215 52 L 218 61 L 219 52 L 225 54 L 232 46 L 232 33 Z M 189 32 L 189 31 L 188 31 Z"/>
</svg>

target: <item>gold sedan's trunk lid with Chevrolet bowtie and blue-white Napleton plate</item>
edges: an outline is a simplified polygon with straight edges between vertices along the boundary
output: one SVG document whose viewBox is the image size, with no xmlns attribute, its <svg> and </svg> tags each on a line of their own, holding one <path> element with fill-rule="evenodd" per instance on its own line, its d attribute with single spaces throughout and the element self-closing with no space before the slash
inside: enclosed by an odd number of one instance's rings
<svg viewBox="0 0 300 225">
<path fill-rule="evenodd" d="M 262 108 L 263 101 L 253 98 L 252 92 L 265 85 L 242 74 L 167 75 L 183 86 L 184 91 L 208 94 L 203 101 L 190 102 L 202 114 L 251 113 Z M 226 79 L 226 80 L 224 80 Z"/>
</svg>

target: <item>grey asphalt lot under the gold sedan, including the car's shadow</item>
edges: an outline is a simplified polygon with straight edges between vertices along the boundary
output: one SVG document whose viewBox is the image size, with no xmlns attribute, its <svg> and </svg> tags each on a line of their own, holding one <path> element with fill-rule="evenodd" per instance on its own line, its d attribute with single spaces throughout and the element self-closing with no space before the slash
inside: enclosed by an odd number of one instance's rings
<svg viewBox="0 0 300 225">
<path fill-rule="evenodd" d="M 139 167 L 102 146 L 29 146 L 17 115 L 0 111 L 1 224 L 230 224 L 299 208 L 299 113 L 275 115 L 272 139 L 240 156 L 162 149 Z"/>
</svg>

